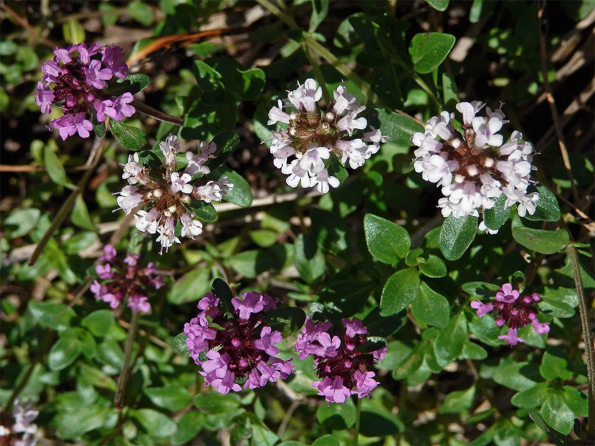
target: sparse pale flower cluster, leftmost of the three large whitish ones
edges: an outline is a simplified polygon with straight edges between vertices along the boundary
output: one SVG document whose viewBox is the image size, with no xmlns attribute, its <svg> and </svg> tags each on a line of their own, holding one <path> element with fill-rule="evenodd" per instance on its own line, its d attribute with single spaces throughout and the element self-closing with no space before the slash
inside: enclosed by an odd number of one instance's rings
<svg viewBox="0 0 595 446">
<path fill-rule="evenodd" d="M 118 193 L 118 206 L 127 214 L 137 206 L 144 208 L 134 215 L 136 227 L 149 234 L 158 233 L 157 241 L 163 252 L 164 248 L 167 251 L 172 244 L 180 243 L 180 236 L 194 238 L 201 234 L 202 223 L 194 218 L 193 208 L 198 207 L 199 202 L 221 201 L 227 191 L 233 189 L 233 184 L 227 177 L 196 184 L 203 175 L 211 172 L 205 162 L 215 153 L 215 143 L 200 143 L 198 155 L 186 152 L 187 166 L 180 171 L 176 163 L 180 150 L 177 137 L 168 136 L 159 147 L 165 156 L 164 165 L 154 157 L 158 166 L 143 166 L 139 164 L 138 153 L 129 156 L 122 175 L 129 186 L 124 186 Z"/>
</svg>

